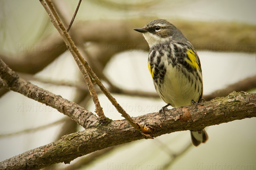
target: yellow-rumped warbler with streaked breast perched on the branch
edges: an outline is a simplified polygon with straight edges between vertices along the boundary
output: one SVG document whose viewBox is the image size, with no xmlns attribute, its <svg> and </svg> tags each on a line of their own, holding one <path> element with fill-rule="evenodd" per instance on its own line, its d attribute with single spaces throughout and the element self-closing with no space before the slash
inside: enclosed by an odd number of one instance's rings
<svg viewBox="0 0 256 170">
<path fill-rule="evenodd" d="M 199 102 L 203 94 L 201 63 L 193 45 L 178 28 L 167 20 L 153 20 L 143 28 L 134 28 L 143 34 L 150 47 L 148 69 L 154 87 L 161 99 L 174 108 Z M 192 144 L 206 142 L 205 130 L 191 131 Z"/>
</svg>

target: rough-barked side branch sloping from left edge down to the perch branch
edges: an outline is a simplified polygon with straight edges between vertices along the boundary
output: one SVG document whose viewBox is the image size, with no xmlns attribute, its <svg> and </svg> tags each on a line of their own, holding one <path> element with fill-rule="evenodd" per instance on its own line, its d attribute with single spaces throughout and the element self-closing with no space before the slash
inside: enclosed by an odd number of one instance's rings
<svg viewBox="0 0 256 170">
<path fill-rule="evenodd" d="M 0 77 L 2 78 L 0 81 L 5 88 L 57 109 L 59 112 L 71 117 L 84 128 L 96 125 L 98 123 L 97 116 L 95 116 L 92 112 L 87 111 L 74 102 L 63 99 L 59 95 L 52 94 L 49 91 L 21 79 L 3 62 L 2 59 L 0 59 Z"/>
</svg>

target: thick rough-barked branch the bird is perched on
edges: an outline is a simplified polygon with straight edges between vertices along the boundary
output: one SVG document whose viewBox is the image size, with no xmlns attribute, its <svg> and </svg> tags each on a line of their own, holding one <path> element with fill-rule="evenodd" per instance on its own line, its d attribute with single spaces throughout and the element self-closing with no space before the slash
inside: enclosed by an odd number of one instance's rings
<svg viewBox="0 0 256 170">
<path fill-rule="evenodd" d="M 251 117 L 256 117 L 256 94 L 233 92 L 227 97 L 200 103 L 197 107 L 190 105 L 168 110 L 166 119 L 158 113 L 148 113 L 134 117 L 134 120 L 150 125 L 154 129 L 153 136 L 156 137 L 180 130 L 201 130 L 207 126 Z M 0 169 L 31 170 L 63 161 L 67 164 L 96 150 L 143 138 L 145 136 L 126 120 L 117 120 L 106 126 L 87 128 L 63 136 L 56 142 L 6 159 L 0 162 Z"/>
</svg>

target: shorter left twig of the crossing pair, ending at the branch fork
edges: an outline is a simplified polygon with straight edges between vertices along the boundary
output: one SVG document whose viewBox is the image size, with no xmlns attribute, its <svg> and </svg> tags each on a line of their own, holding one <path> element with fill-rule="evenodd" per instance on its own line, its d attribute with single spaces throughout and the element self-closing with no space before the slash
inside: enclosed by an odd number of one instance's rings
<svg viewBox="0 0 256 170">
<path fill-rule="evenodd" d="M 55 11 L 52 1 L 46 0 L 47 5 L 42 0 L 40 0 L 40 2 L 44 6 L 47 13 L 49 14 L 49 17 L 51 18 L 53 25 L 59 31 L 59 33 L 61 34 L 61 37 L 63 37 L 63 40 L 66 43 L 67 48 L 70 50 L 71 54 L 73 55 L 73 57 L 76 61 L 76 64 L 79 66 L 79 69 L 84 77 L 84 80 L 85 80 L 87 87 L 90 91 L 90 94 L 93 98 L 93 102 L 96 107 L 96 110 L 95 110 L 96 113 L 98 114 L 100 119 L 105 119 L 105 115 L 103 113 L 102 107 L 100 106 L 98 96 L 97 96 L 96 91 L 93 87 L 93 84 L 90 80 L 90 77 L 88 76 L 87 71 L 84 69 L 83 65 L 81 64 L 81 62 L 80 62 L 81 60 L 79 60 L 80 58 L 82 58 L 81 54 L 79 53 L 78 49 L 76 48 L 75 44 L 71 40 L 66 29 L 64 28 L 63 23 L 61 22 L 60 18 L 58 17 L 57 12 Z M 64 39 L 64 37 L 66 37 L 66 39 Z"/>
</svg>

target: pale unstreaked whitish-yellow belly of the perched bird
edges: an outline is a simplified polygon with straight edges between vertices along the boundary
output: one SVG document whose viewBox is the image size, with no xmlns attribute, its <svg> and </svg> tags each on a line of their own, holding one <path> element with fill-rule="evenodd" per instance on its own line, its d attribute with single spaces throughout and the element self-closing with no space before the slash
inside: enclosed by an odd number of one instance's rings
<svg viewBox="0 0 256 170">
<path fill-rule="evenodd" d="M 189 77 L 189 78 L 188 78 Z M 202 93 L 202 83 L 192 73 L 183 72 L 169 65 L 162 84 L 155 83 L 156 91 L 164 102 L 177 108 L 190 105 L 192 100 L 198 102 Z"/>
</svg>

